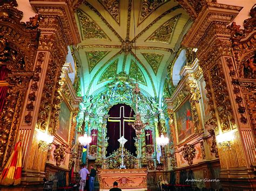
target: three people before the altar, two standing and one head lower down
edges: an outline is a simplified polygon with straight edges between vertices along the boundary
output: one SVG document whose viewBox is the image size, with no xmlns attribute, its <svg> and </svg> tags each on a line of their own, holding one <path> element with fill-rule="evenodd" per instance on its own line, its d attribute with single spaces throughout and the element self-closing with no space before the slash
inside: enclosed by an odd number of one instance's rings
<svg viewBox="0 0 256 191">
<path fill-rule="evenodd" d="M 79 171 L 80 176 L 80 186 L 79 191 L 84 191 L 86 180 L 89 181 L 89 191 L 94 191 L 94 182 L 95 182 L 95 176 L 96 176 L 96 170 L 93 168 L 93 166 L 90 166 L 91 171 L 89 172 L 86 168 L 86 165 L 83 165 L 82 169 Z M 89 176 L 89 178 L 88 178 Z M 110 189 L 110 191 L 120 191 L 122 189 L 118 188 L 118 183 L 113 183 L 113 188 Z"/>
</svg>

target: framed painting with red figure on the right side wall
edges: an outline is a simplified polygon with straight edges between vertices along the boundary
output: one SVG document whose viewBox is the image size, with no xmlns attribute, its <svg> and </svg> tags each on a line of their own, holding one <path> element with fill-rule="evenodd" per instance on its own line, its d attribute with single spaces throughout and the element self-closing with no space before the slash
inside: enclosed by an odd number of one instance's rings
<svg viewBox="0 0 256 191">
<path fill-rule="evenodd" d="M 194 125 L 192 121 L 192 111 L 189 99 L 185 100 L 175 111 L 177 124 L 178 142 L 194 134 Z"/>
</svg>

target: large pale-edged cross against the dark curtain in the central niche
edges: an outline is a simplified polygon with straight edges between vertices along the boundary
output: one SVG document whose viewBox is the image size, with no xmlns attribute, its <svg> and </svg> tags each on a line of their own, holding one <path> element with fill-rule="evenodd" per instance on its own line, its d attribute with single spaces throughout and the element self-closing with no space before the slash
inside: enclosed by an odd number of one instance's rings
<svg viewBox="0 0 256 191">
<path fill-rule="evenodd" d="M 108 122 L 119 122 L 119 129 L 120 129 L 119 138 L 121 138 L 122 136 L 125 137 L 125 135 L 124 135 L 124 123 L 125 122 L 134 122 L 134 120 L 135 120 L 134 117 L 130 117 L 130 116 L 125 117 L 124 116 L 124 106 L 120 107 L 119 117 L 109 117 L 109 118 L 107 118 Z"/>
</svg>

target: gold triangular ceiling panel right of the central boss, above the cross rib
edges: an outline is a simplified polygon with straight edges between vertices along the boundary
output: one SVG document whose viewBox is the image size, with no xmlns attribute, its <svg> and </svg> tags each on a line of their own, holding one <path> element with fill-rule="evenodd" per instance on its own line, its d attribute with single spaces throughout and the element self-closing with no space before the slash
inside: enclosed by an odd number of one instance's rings
<svg viewBox="0 0 256 191">
<path fill-rule="evenodd" d="M 167 22 L 165 22 L 156 31 L 154 31 L 146 41 L 169 44 L 171 41 L 173 29 L 179 17 L 180 15 L 167 20 Z"/>
</svg>

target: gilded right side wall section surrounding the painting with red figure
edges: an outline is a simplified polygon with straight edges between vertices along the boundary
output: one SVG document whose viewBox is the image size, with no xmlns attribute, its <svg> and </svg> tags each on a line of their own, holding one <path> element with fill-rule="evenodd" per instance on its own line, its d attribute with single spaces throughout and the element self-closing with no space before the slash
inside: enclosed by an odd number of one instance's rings
<svg viewBox="0 0 256 191">
<path fill-rule="evenodd" d="M 214 126 L 207 125 L 212 113 L 206 107 L 206 84 L 196 53 L 188 48 L 186 52 L 186 64 L 180 71 L 183 77 L 171 97 L 165 100 L 172 140 L 166 157 L 169 170 L 176 172 L 176 183 L 180 183 L 179 168 L 193 169 L 194 178 L 198 179 L 214 177 L 213 174 L 206 175 L 203 170 L 196 167 L 198 164 L 207 166 L 206 160 L 217 165 L 215 168 L 219 169 L 218 164 L 215 164 L 218 160 L 215 135 L 208 132 Z M 206 171 L 210 169 L 206 167 Z M 168 175 L 170 176 L 166 174 Z M 196 184 L 199 187 L 210 186 L 207 182 L 203 182 L 203 185 L 200 185 L 200 182 Z"/>
</svg>

